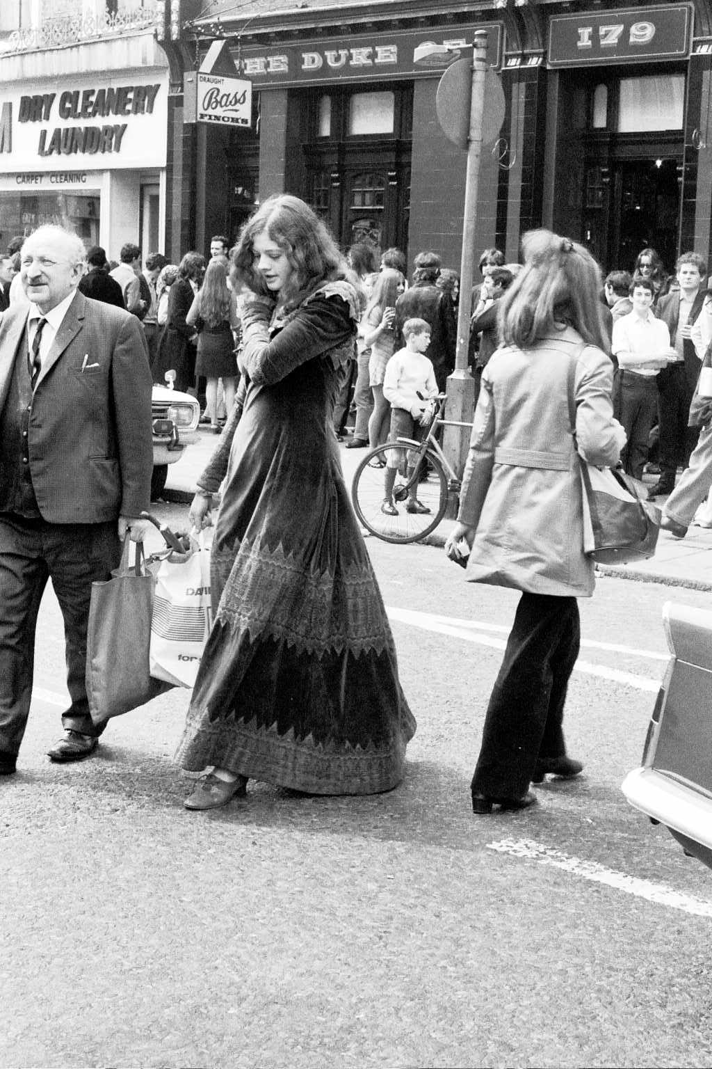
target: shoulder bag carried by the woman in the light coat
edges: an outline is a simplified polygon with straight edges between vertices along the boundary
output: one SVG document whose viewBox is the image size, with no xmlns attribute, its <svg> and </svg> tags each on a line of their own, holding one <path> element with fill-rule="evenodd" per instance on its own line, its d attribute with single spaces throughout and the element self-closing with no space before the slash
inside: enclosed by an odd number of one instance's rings
<svg viewBox="0 0 712 1069">
<path fill-rule="evenodd" d="M 580 458 L 581 460 L 581 458 Z M 581 460 L 584 553 L 599 564 L 630 564 L 655 552 L 661 513 L 619 468 Z"/>
</svg>

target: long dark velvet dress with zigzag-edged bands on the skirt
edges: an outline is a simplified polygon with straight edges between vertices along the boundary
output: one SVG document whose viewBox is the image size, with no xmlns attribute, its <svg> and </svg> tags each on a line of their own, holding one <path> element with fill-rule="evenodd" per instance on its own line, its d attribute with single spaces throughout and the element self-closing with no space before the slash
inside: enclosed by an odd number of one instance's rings
<svg viewBox="0 0 712 1069">
<path fill-rule="evenodd" d="M 315 794 L 395 787 L 415 721 L 331 430 L 358 300 L 243 310 L 247 392 L 206 471 L 215 623 L 176 759 Z M 241 410 L 240 410 L 241 408 Z"/>
</svg>

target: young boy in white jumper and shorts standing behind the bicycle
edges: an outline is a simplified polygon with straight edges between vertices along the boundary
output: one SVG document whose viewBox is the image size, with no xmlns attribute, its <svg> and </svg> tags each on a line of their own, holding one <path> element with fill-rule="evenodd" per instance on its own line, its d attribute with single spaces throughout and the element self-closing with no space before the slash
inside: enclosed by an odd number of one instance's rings
<svg viewBox="0 0 712 1069">
<path fill-rule="evenodd" d="M 394 353 L 385 366 L 383 397 L 391 403 L 391 441 L 398 437 L 420 441 L 432 418 L 431 399 L 438 396 L 438 384 L 432 363 L 424 356 L 430 344 L 430 325 L 425 320 L 406 320 L 402 325 L 405 348 Z M 402 462 L 405 449 L 392 449 L 385 466 L 385 497 L 381 512 L 396 516 L 393 500 L 396 472 Z M 408 477 L 413 475 L 412 451 L 408 451 Z M 417 500 L 417 480 L 408 491 L 406 512 L 429 512 L 427 505 Z"/>
</svg>

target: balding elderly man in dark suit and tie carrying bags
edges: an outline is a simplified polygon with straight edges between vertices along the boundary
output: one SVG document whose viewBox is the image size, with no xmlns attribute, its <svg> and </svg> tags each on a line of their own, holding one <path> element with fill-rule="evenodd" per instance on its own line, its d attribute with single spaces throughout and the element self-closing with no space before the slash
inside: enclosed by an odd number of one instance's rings
<svg viewBox="0 0 712 1069">
<path fill-rule="evenodd" d="M 21 252 L 28 306 L 0 321 L 0 774 L 15 771 L 32 695 L 37 610 L 51 578 L 70 706 L 53 761 L 88 757 L 86 625 L 94 580 L 145 533 L 151 373 L 136 316 L 78 291 L 84 249 L 41 227 Z"/>
</svg>

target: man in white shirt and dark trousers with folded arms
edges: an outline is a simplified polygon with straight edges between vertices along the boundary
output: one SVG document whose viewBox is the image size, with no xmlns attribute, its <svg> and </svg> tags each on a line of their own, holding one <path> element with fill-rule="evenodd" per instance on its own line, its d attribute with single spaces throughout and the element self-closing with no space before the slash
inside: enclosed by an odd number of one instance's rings
<svg viewBox="0 0 712 1069">
<path fill-rule="evenodd" d="M 652 314 L 652 281 L 636 279 L 630 293 L 633 311 L 613 324 L 611 350 L 618 360 L 614 412 L 628 437 L 621 453 L 623 467 L 628 475 L 642 479 L 648 435 L 658 418 L 658 372 L 676 358 L 676 352 L 667 325 Z"/>
</svg>

